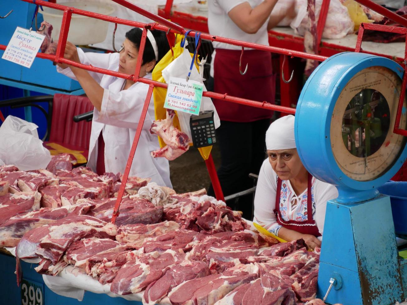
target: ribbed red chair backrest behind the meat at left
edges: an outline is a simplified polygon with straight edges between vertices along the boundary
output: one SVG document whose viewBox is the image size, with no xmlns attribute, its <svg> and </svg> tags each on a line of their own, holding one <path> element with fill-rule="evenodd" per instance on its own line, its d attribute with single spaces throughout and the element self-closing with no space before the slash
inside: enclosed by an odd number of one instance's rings
<svg viewBox="0 0 407 305">
<path fill-rule="evenodd" d="M 73 117 L 89 112 L 93 108 L 88 97 L 66 94 L 54 95 L 50 137 L 49 141 L 44 142 L 44 145 L 51 150 L 51 153 L 53 153 L 52 150 L 55 150 L 55 147 L 61 145 L 68 150 L 83 151 L 81 154 L 86 159 L 88 158 L 92 122 L 84 120 L 76 123 L 73 121 Z M 50 143 L 58 145 L 50 147 Z"/>
</svg>

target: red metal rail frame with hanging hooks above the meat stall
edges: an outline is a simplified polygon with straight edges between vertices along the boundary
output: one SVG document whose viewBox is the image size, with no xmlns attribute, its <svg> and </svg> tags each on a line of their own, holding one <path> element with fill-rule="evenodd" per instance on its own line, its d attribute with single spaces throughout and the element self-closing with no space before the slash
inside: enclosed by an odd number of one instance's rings
<svg viewBox="0 0 407 305">
<path fill-rule="evenodd" d="M 126 25 L 131 25 L 131 26 L 136 26 L 139 28 L 143 28 L 143 34 L 142 34 L 142 40 L 140 43 L 140 50 L 139 50 L 139 54 L 143 54 L 144 52 L 144 45 L 145 45 L 145 41 L 146 41 L 146 37 L 147 37 L 147 28 L 156 28 L 158 30 L 163 30 L 165 32 L 171 31 L 171 32 L 178 32 L 180 34 L 185 34 L 186 30 L 184 30 L 184 28 L 182 26 L 179 26 L 173 22 L 170 22 L 160 16 L 154 15 L 152 13 L 150 13 L 149 11 L 146 11 L 138 6 L 136 6 L 135 4 L 132 4 L 126 0 L 112 0 L 118 4 L 121 4 L 133 11 L 136 11 L 137 13 L 140 13 L 141 15 L 144 15 L 156 22 L 160 22 L 161 24 L 143 24 L 140 22 L 132 22 L 132 21 L 128 21 L 125 19 L 120 19 L 120 18 L 116 18 L 116 17 L 110 17 L 110 16 L 105 16 L 105 15 L 101 15 L 101 14 L 97 14 L 97 13 L 92 13 L 92 12 L 88 12 L 88 11 L 83 11 L 83 10 L 79 10 L 79 9 L 74 9 L 74 8 L 70 8 L 67 6 L 63 6 L 60 4 L 55 4 L 55 3 L 50 3 L 50 2 L 46 2 L 43 0 L 22 0 L 24 2 L 29 2 L 29 3 L 33 3 L 36 5 L 43 5 L 43 6 L 47 6 L 47 7 L 51 7 L 53 9 L 59 9 L 61 11 L 64 11 L 63 13 L 63 18 L 62 18 L 62 24 L 61 24 L 61 32 L 60 32 L 60 39 L 59 39 L 59 43 L 58 43 L 58 47 L 57 47 L 57 52 L 56 55 L 49 55 L 49 54 L 42 54 L 42 53 L 38 53 L 36 56 L 39 58 L 46 58 L 46 59 L 50 59 L 56 63 L 66 63 L 68 65 L 72 65 L 74 67 L 79 67 L 88 71 L 94 71 L 94 72 L 98 72 L 98 73 L 102 73 L 102 74 L 107 74 L 107 75 L 111 75 L 111 76 L 116 76 L 119 78 L 124 78 L 124 79 L 132 79 L 135 82 L 143 82 L 145 84 L 149 84 L 149 91 L 147 93 L 147 97 L 146 100 L 144 102 L 144 107 L 142 110 L 142 113 L 140 115 L 140 121 L 136 130 L 136 136 L 134 137 L 134 141 L 133 141 L 133 145 L 131 147 L 131 151 L 129 154 L 129 158 L 127 160 L 127 165 L 126 165 L 126 169 L 125 169 L 125 173 L 123 175 L 123 180 L 122 180 L 122 184 L 120 186 L 120 190 L 119 190 L 119 196 L 116 200 L 116 205 L 115 205 L 115 209 L 114 209 L 114 214 L 112 216 L 112 223 L 114 223 L 116 221 L 116 217 L 118 216 L 119 212 L 119 208 L 120 208 L 120 202 L 123 198 L 123 194 L 124 194 L 124 190 L 125 190 L 125 185 L 127 182 L 127 178 L 129 175 L 129 171 L 130 171 L 130 167 L 131 167 L 131 163 L 133 162 L 133 157 L 134 154 L 136 152 L 136 148 L 138 145 L 138 140 L 140 138 L 140 134 L 141 134 L 141 130 L 142 130 L 142 126 L 144 124 L 144 119 L 147 113 L 147 109 L 148 109 L 148 105 L 149 102 L 151 100 L 151 95 L 153 93 L 153 88 L 154 87 L 162 87 L 162 88 L 167 88 L 167 84 L 163 84 L 160 82 L 156 82 L 153 80 L 149 80 L 146 78 L 140 78 L 139 74 L 140 74 L 140 66 L 141 66 L 141 61 L 142 61 L 142 55 L 138 58 L 137 61 L 137 65 L 136 65 L 136 70 L 135 70 L 135 74 L 133 75 L 128 75 L 128 74 L 124 74 L 124 73 L 120 73 L 120 72 L 116 72 L 116 71 L 111 71 L 111 70 L 107 70 L 107 69 L 101 69 L 98 67 L 93 67 L 91 65 L 83 65 L 81 63 L 76 63 L 74 61 L 68 60 L 66 58 L 63 58 L 63 54 L 65 52 L 65 47 L 66 47 L 66 39 L 68 37 L 68 31 L 69 31 L 69 26 L 70 26 L 70 20 L 71 20 L 71 16 L 72 14 L 78 14 L 78 15 L 84 15 L 84 16 L 88 16 L 88 17 L 93 17 L 96 19 L 101 19 L 101 20 L 105 20 L 108 22 L 114 22 L 114 23 L 119 23 L 119 24 L 126 24 Z M 326 1 L 326 0 L 324 0 Z M 170 0 L 170 2 L 172 2 Z M 362 2 L 370 2 L 369 0 L 358 0 L 358 2 L 362 3 Z M 372 2 L 370 2 L 372 3 Z M 168 3 L 167 3 L 168 4 Z M 171 9 L 171 6 L 168 6 Z M 168 7 L 166 6 L 166 9 L 168 11 Z M 326 8 L 325 8 L 326 9 Z M 384 9 L 384 8 L 383 8 Z M 401 18 L 400 16 L 389 12 L 387 9 L 384 9 L 385 13 L 382 13 L 382 15 L 385 15 L 387 17 L 389 17 L 389 19 L 394 19 L 396 22 L 399 22 L 400 24 L 407 24 L 407 20 L 403 19 L 403 20 L 398 20 L 399 18 Z M 326 9 L 327 11 L 327 9 Z M 396 15 L 396 17 L 398 18 L 393 18 L 393 15 Z M 321 21 L 322 22 L 322 21 Z M 172 29 L 172 30 L 171 30 Z M 195 35 L 195 32 L 189 32 L 190 36 Z M 290 50 L 290 49 L 284 49 L 284 48 L 277 48 L 277 47 L 272 47 L 272 46 L 266 46 L 266 45 L 259 45 L 256 43 L 248 43 L 245 41 L 238 41 L 235 39 L 228 39 L 228 38 L 224 38 L 224 37 L 215 37 L 209 34 L 201 34 L 201 38 L 203 39 L 208 39 L 210 41 L 219 41 L 219 42 L 223 42 L 223 43 L 228 43 L 228 44 L 232 44 L 232 45 L 238 45 L 241 47 L 246 47 L 246 48 L 253 48 L 253 49 L 257 49 L 257 50 L 264 50 L 267 52 L 274 52 L 274 53 L 278 53 L 278 54 L 284 54 L 284 55 L 289 55 L 291 57 L 296 56 L 296 57 L 300 57 L 300 58 L 307 58 L 307 59 L 312 59 L 312 60 L 317 60 L 317 61 L 324 61 L 327 57 L 326 56 L 321 56 L 321 55 L 316 55 L 316 54 L 307 54 L 305 52 L 300 52 L 300 51 L 295 51 L 295 50 Z M 5 45 L 0 45 L 0 50 L 5 50 L 6 46 Z M 406 74 L 405 74 L 406 75 Z M 403 86 L 405 86 L 405 77 L 403 78 Z M 404 87 L 405 88 L 405 87 Z M 290 108 L 290 107 L 284 107 L 284 106 L 277 106 L 277 105 L 272 105 L 272 104 L 267 104 L 267 102 L 256 102 L 256 101 L 252 101 L 252 100 L 246 100 L 246 99 L 242 99 L 239 97 L 233 97 L 233 96 L 229 96 L 227 93 L 225 94 L 219 94 L 219 93 L 214 93 L 214 92 L 204 92 L 203 94 L 204 96 L 207 97 L 211 97 L 211 98 L 215 98 L 215 99 L 220 99 L 220 100 L 225 100 L 225 101 L 229 101 L 229 102 L 234 102 L 234 103 L 238 103 L 238 104 L 244 104 L 244 105 L 248 105 L 248 106 L 253 106 L 253 107 L 257 107 L 257 108 L 264 108 L 264 109 L 270 109 L 270 110 L 277 110 L 280 112 L 285 112 L 285 113 L 290 113 L 290 114 L 295 114 L 295 109 L 294 108 Z M 403 94 L 404 95 L 404 94 Z M 217 173 L 214 167 L 214 163 L 213 163 L 213 159 L 212 156 L 210 156 L 208 158 L 208 160 L 206 160 L 206 166 L 208 168 L 208 172 L 212 181 L 212 185 L 214 187 L 214 192 L 216 194 L 216 197 L 218 200 L 223 200 L 223 193 L 220 187 L 220 183 L 219 183 L 219 179 L 217 177 Z"/>
</svg>

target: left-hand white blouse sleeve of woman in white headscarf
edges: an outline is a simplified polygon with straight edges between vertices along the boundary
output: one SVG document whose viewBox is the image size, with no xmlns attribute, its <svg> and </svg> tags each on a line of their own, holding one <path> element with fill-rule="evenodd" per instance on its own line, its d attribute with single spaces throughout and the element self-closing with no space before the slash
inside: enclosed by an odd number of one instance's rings
<svg viewBox="0 0 407 305">
<path fill-rule="evenodd" d="M 267 231 L 278 236 L 281 225 L 277 223 L 274 209 L 276 208 L 277 175 L 273 171 L 269 159 L 264 160 L 258 175 L 256 195 L 254 196 L 254 219 Z"/>
</svg>

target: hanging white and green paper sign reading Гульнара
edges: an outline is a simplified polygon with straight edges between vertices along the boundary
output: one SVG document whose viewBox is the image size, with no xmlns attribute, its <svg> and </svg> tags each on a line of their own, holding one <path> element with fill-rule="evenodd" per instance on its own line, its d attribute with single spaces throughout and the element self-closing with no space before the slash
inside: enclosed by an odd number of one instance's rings
<svg viewBox="0 0 407 305">
<path fill-rule="evenodd" d="M 204 86 L 200 82 L 193 80 L 187 82 L 185 78 L 171 77 L 164 108 L 199 115 L 203 91 Z"/>
</svg>

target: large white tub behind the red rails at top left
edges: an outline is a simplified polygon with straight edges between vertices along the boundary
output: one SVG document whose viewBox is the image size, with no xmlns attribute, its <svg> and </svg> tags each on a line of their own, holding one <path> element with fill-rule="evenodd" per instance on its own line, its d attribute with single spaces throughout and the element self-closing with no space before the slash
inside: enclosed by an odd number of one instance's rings
<svg viewBox="0 0 407 305">
<path fill-rule="evenodd" d="M 109 6 L 103 2 L 58 2 L 58 4 L 103 15 L 110 15 L 114 12 L 113 6 Z M 59 32 L 61 31 L 63 11 L 51 9 L 45 6 L 43 6 L 43 9 L 44 11 L 39 10 L 39 13 L 43 15 L 46 22 L 52 24 L 52 39 L 58 40 Z M 108 26 L 109 22 L 107 21 L 72 14 L 68 41 L 72 42 L 74 45 L 89 45 L 92 43 L 102 42 L 106 39 Z"/>
</svg>

